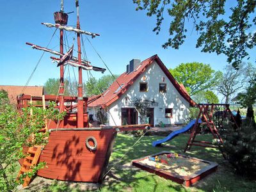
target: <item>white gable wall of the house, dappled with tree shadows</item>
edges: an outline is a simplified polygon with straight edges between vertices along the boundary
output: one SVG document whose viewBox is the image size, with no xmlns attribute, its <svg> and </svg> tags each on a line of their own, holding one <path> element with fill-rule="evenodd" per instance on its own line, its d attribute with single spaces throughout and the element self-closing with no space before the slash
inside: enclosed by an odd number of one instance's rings
<svg viewBox="0 0 256 192">
<path fill-rule="evenodd" d="M 143 78 L 144 76 L 145 78 Z M 144 79 L 145 81 L 143 81 Z M 148 83 L 148 92 L 140 92 L 140 82 Z M 159 83 L 166 83 L 166 93 L 159 92 Z M 136 79 L 120 99 L 108 107 L 109 125 L 121 125 L 121 108 L 126 107 L 125 97 L 131 100 L 136 98 L 154 99 L 158 103 L 158 106 L 154 107 L 154 125 L 158 125 L 160 122 L 183 124 L 189 115 L 189 102 L 180 95 L 156 61 Z M 165 108 L 173 109 L 172 118 L 165 117 Z M 140 124 L 140 118 L 138 118 L 138 122 Z"/>
</svg>

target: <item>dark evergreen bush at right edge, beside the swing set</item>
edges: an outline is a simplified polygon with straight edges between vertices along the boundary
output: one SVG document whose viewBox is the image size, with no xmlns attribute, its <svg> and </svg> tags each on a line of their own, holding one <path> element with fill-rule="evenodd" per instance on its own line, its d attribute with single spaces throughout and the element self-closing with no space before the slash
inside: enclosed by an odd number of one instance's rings
<svg viewBox="0 0 256 192">
<path fill-rule="evenodd" d="M 256 175 L 256 125 L 252 120 L 244 120 L 241 127 L 234 129 L 227 122 L 221 131 L 224 140 L 221 151 L 236 172 L 242 175 Z"/>
</svg>

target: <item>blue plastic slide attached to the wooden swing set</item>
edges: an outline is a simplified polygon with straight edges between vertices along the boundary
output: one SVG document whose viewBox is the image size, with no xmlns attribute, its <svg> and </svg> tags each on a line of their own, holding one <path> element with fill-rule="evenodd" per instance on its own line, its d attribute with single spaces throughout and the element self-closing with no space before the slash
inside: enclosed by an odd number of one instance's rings
<svg viewBox="0 0 256 192">
<path fill-rule="evenodd" d="M 196 122 L 196 120 L 193 119 L 193 120 L 191 120 L 191 122 L 189 122 L 188 125 L 186 125 L 185 127 L 182 127 L 181 129 L 179 129 L 177 131 L 171 132 L 166 138 L 163 138 L 163 140 L 153 141 L 153 143 L 152 143 L 153 147 L 157 147 L 157 146 L 161 145 L 161 143 L 172 140 L 173 138 L 175 138 L 175 136 L 178 136 L 180 133 L 188 131 L 189 129 L 191 129 L 193 127 L 195 122 Z M 200 119 L 198 120 L 198 123 L 199 124 L 201 123 Z"/>
</svg>

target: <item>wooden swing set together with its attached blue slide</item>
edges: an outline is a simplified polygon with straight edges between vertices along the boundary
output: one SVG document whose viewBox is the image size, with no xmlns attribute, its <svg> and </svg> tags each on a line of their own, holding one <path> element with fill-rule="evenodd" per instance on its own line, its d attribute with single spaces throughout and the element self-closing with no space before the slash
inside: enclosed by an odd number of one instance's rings
<svg viewBox="0 0 256 192">
<path fill-rule="evenodd" d="M 199 108 L 199 113 L 196 119 L 191 120 L 191 122 L 189 122 L 189 124 L 185 127 L 171 132 L 168 136 L 166 136 L 166 138 L 153 141 L 152 145 L 154 147 L 159 147 L 162 143 L 170 141 L 180 133 L 189 131 L 189 129 L 191 129 L 191 134 L 189 136 L 189 140 L 186 144 L 184 152 L 189 150 L 192 145 L 216 148 L 218 145 L 213 145 L 212 142 L 195 140 L 196 134 L 201 131 L 200 126 L 205 126 L 205 129 L 208 129 L 209 132 L 211 132 L 213 140 L 220 144 L 223 143 L 223 140 L 221 139 L 218 130 L 223 127 L 224 118 L 231 118 L 232 122 L 234 122 L 236 127 L 238 127 L 236 120 L 234 119 L 234 116 L 232 115 L 232 112 L 229 108 L 229 104 L 197 104 L 196 106 Z"/>
</svg>

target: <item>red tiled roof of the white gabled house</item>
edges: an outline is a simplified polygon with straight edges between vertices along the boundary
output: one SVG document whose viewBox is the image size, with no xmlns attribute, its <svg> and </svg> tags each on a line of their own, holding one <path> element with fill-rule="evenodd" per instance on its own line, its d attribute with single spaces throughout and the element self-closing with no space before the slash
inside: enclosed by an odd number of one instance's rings
<svg viewBox="0 0 256 192">
<path fill-rule="evenodd" d="M 163 70 L 164 74 L 170 79 L 172 82 L 173 86 L 177 89 L 177 91 L 186 99 L 191 106 L 195 106 L 196 103 L 189 97 L 188 92 L 186 91 L 186 88 L 183 86 L 183 84 L 179 84 L 172 74 L 170 74 L 168 68 L 165 67 L 163 62 L 160 60 L 160 58 L 156 55 L 148 58 L 147 60 L 144 60 L 141 62 L 141 64 L 137 67 L 134 68 L 134 71 L 127 74 L 124 72 L 121 74 L 114 83 L 109 86 L 109 88 L 102 93 L 101 97 L 99 99 L 91 102 L 88 104 L 89 107 L 102 107 L 106 108 L 109 105 L 111 105 L 113 102 L 118 100 L 122 94 L 124 94 L 128 88 L 136 81 L 136 79 L 142 74 L 147 67 L 152 64 L 154 61 L 159 65 L 159 67 Z M 122 86 L 122 89 L 120 88 Z M 119 89 L 118 89 L 119 88 Z"/>
</svg>

